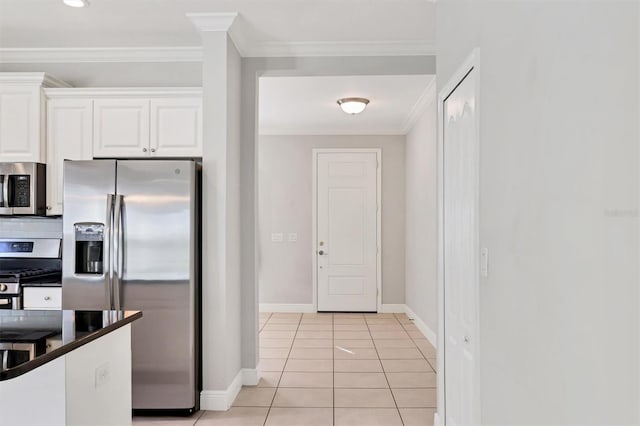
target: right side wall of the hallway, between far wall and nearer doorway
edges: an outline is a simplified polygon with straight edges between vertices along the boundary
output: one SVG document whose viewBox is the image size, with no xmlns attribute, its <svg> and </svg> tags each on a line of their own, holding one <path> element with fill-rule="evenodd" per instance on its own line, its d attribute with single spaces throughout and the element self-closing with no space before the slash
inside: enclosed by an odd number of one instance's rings
<svg viewBox="0 0 640 426">
<path fill-rule="evenodd" d="M 438 144 L 435 81 L 406 138 L 406 303 L 433 332 L 438 330 Z"/>
</svg>

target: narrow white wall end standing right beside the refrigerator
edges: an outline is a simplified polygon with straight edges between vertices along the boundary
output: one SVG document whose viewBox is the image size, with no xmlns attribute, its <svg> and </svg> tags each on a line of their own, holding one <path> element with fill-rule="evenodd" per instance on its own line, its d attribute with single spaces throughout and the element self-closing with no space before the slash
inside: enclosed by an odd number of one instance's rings
<svg viewBox="0 0 640 426">
<path fill-rule="evenodd" d="M 223 31 L 204 32 L 202 409 L 227 409 L 240 382 L 241 58 Z"/>
</svg>

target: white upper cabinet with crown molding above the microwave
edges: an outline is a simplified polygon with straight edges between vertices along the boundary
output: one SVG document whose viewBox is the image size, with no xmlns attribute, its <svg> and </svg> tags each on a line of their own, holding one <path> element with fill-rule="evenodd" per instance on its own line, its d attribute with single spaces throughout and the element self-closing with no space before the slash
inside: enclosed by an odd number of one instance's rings
<svg viewBox="0 0 640 426">
<path fill-rule="evenodd" d="M 44 162 L 43 87 L 68 85 L 44 73 L 0 73 L 0 162 Z"/>
</svg>

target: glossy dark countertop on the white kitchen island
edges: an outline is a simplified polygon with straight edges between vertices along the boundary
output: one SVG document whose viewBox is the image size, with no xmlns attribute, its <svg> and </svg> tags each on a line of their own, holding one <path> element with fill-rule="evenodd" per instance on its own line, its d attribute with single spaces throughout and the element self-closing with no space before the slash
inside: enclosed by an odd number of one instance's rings
<svg viewBox="0 0 640 426">
<path fill-rule="evenodd" d="M 0 364 L 0 381 L 34 370 L 139 318 L 142 318 L 140 311 L 0 310 L 0 333 L 47 332 L 50 337 L 62 340 L 62 346 L 13 368 L 3 370 Z"/>
</svg>

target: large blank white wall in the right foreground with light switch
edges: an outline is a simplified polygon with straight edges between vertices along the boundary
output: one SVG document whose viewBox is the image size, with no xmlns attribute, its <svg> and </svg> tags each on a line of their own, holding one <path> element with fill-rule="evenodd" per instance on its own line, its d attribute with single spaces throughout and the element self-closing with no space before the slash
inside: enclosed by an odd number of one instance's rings
<svg viewBox="0 0 640 426">
<path fill-rule="evenodd" d="M 483 424 L 638 424 L 638 3 L 440 0 L 480 47 Z"/>
</svg>

